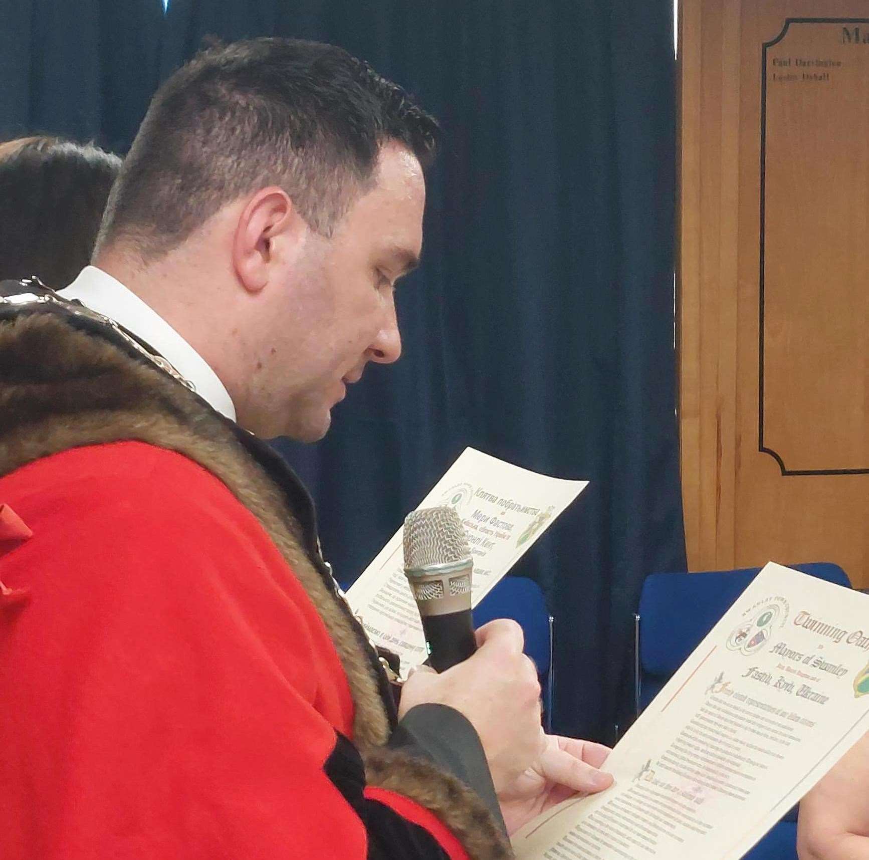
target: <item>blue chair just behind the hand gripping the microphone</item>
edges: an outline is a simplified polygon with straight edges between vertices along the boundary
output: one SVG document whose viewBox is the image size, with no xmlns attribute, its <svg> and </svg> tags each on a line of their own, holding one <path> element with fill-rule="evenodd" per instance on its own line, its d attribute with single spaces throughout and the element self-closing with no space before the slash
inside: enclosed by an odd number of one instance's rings
<svg viewBox="0 0 869 860">
<path fill-rule="evenodd" d="M 553 618 L 540 585 L 522 576 L 507 576 L 488 592 L 474 609 L 474 626 L 493 619 L 513 619 L 525 633 L 525 653 L 537 665 L 543 687 L 544 725 L 552 729 Z"/>
</svg>

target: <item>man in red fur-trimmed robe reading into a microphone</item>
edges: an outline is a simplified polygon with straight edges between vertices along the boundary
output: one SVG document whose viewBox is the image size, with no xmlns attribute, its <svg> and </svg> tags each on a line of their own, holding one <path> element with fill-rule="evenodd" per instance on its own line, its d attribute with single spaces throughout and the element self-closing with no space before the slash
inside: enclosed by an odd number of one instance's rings
<svg viewBox="0 0 869 860">
<path fill-rule="evenodd" d="M 543 734 L 512 622 L 396 711 L 254 435 L 319 439 L 399 357 L 435 134 L 343 50 L 208 50 L 95 265 L 0 302 L 3 860 L 507 857 L 504 822 L 608 784 L 605 748 Z"/>
</svg>

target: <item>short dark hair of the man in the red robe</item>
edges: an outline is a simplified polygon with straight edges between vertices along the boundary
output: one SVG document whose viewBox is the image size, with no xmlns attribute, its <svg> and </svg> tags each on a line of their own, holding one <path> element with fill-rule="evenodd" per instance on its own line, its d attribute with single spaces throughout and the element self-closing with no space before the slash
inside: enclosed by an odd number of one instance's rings
<svg viewBox="0 0 869 860">
<path fill-rule="evenodd" d="M 120 241 L 149 261 L 227 203 L 269 185 L 328 236 L 374 181 L 384 143 L 401 143 L 425 169 L 437 133 L 401 87 L 334 45 L 212 45 L 154 96 L 109 197 L 97 250 Z"/>
</svg>

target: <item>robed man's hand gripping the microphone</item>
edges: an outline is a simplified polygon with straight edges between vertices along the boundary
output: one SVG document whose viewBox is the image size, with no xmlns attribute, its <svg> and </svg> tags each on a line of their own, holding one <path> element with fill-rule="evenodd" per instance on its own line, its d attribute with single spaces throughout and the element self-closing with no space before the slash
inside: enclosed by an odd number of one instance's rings
<svg viewBox="0 0 869 860">
<path fill-rule="evenodd" d="M 522 628 L 498 619 L 477 632 L 478 651 L 440 674 L 415 671 L 401 690 L 399 717 L 414 705 L 438 703 L 460 711 L 476 729 L 496 792 L 541 756 L 541 686 L 522 653 Z"/>
</svg>

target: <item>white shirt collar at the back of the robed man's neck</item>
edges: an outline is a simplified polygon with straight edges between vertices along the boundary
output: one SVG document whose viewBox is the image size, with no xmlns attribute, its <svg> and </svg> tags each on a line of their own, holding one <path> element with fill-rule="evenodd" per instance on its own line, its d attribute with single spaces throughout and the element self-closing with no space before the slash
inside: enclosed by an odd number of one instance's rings
<svg viewBox="0 0 869 860">
<path fill-rule="evenodd" d="M 196 387 L 196 394 L 227 418 L 235 420 L 229 392 L 202 356 L 162 316 L 149 308 L 121 281 L 96 266 L 83 268 L 69 287 L 58 292 L 64 299 L 78 299 L 97 314 L 129 328 L 149 343 L 166 361 Z"/>
</svg>

